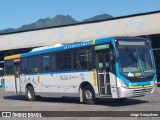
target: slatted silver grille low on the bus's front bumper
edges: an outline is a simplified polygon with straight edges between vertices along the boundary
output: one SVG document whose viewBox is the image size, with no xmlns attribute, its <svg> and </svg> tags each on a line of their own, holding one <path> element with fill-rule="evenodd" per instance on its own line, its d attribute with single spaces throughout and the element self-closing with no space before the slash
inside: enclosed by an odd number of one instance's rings
<svg viewBox="0 0 160 120">
<path fill-rule="evenodd" d="M 142 96 L 145 94 L 150 94 L 153 88 L 144 88 L 144 89 L 137 89 L 133 91 L 134 96 Z"/>
</svg>

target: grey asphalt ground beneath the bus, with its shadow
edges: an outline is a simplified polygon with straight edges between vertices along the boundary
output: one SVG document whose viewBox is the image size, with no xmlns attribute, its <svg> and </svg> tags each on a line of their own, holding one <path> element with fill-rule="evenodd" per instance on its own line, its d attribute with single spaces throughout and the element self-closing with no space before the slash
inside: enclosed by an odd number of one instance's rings
<svg viewBox="0 0 160 120">
<path fill-rule="evenodd" d="M 160 111 L 160 87 L 157 94 L 144 97 L 129 98 L 124 102 L 116 102 L 113 99 L 100 99 L 94 105 L 80 104 L 78 98 L 39 98 L 35 102 L 28 102 L 25 96 L 6 93 L 0 88 L 0 111 Z M 160 114 L 159 114 L 160 116 Z M 1 118 L 0 118 L 1 119 Z M 3 118 L 7 119 L 8 118 Z M 15 118 L 14 118 L 15 119 Z M 16 118 L 19 119 L 19 118 Z M 27 118 L 26 118 L 27 119 Z M 30 119 L 30 118 L 29 118 Z M 38 119 L 38 118 L 37 118 Z M 43 118 L 52 119 L 52 118 Z M 75 117 L 57 117 L 58 120 L 72 120 Z M 76 119 L 106 119 L 106 117 L 78 117 Z M 115 119 L 109 117 L 108 119 Z M 118 118 L 118 119 L 143 119 L 140 118 Z M 145 118 L 146 119 L 146 118 Z M 149 120 L 160 119 L 156 117 Z"/>
</svg>

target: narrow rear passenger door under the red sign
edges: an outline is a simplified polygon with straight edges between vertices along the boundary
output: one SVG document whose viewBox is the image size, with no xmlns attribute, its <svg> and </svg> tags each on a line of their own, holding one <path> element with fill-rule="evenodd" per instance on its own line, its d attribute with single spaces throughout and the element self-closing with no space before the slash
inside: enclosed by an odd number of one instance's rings
<svg viewBox="0 0 160 120">
<path fill-rule="evenodd" d="M 16 92 L 16 94 L 21 94 L 20 59 L 15 59 L 14 60 L 14 69 L 15 69 L 15 92 Z"/>
</svg>

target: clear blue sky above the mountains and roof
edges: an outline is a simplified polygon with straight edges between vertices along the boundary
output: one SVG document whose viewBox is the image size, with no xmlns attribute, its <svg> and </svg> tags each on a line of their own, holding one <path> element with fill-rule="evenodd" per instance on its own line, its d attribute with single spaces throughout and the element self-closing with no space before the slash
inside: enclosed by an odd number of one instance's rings
<svg viewBox="0 0 160 120">
<path fill-rule="evenodd" d="M 160 0 L 0 0 L 0 30 L 56 15 L 82 21 L 104 13 L 118 17 L 158 10 Z"/>
</svg>

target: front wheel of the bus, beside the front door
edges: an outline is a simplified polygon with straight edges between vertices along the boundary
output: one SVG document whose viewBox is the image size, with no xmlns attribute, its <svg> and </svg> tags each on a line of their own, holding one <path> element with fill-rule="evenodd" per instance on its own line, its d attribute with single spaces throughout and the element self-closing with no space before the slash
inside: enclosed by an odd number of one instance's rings
<svg viewBox="0 0 160 120">
<path fill-rule="evenodd" d="M 90 85 L 86 85 L 82 89 L 83 102 L 85 104 L 94 104 L 95 103 L 95 94 L 94 90 Z"/>
</svg>

